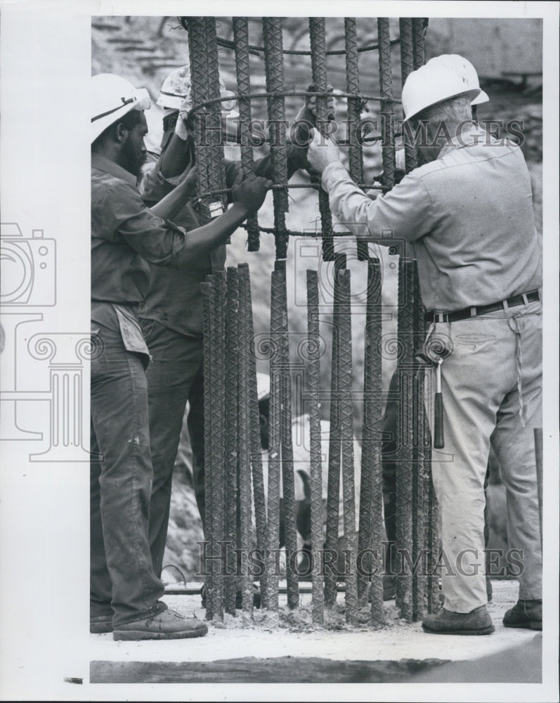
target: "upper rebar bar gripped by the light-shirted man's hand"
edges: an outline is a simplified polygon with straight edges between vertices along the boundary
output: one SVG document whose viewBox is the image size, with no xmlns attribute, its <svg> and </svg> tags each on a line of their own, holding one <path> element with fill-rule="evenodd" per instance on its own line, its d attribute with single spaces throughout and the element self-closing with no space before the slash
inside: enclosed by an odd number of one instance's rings
<svg viewBox="0 0 560 703">
<path fill-rule="evenodd" d="M 309 18 L 309 41 L 311 43 L 311 75 L 315 89 L 319 91 L 327 90 L 327 39 L 325 34 L 325 18 Z M 327 98 L 317 96 L 317 124 L 320 134 L 325 137 L 328 129 Z M 313 174 L 314 183 L 319 183 L 320 176 Z M 330 255 L 331 245 L 329 239 L 332 238 L 332 214 L 329 207 L 329 196 L 323 188 L 319 188 L 319 214 L 321 218 L 321 236 L 323 237 L 323 260 Z"/>
</svg>

